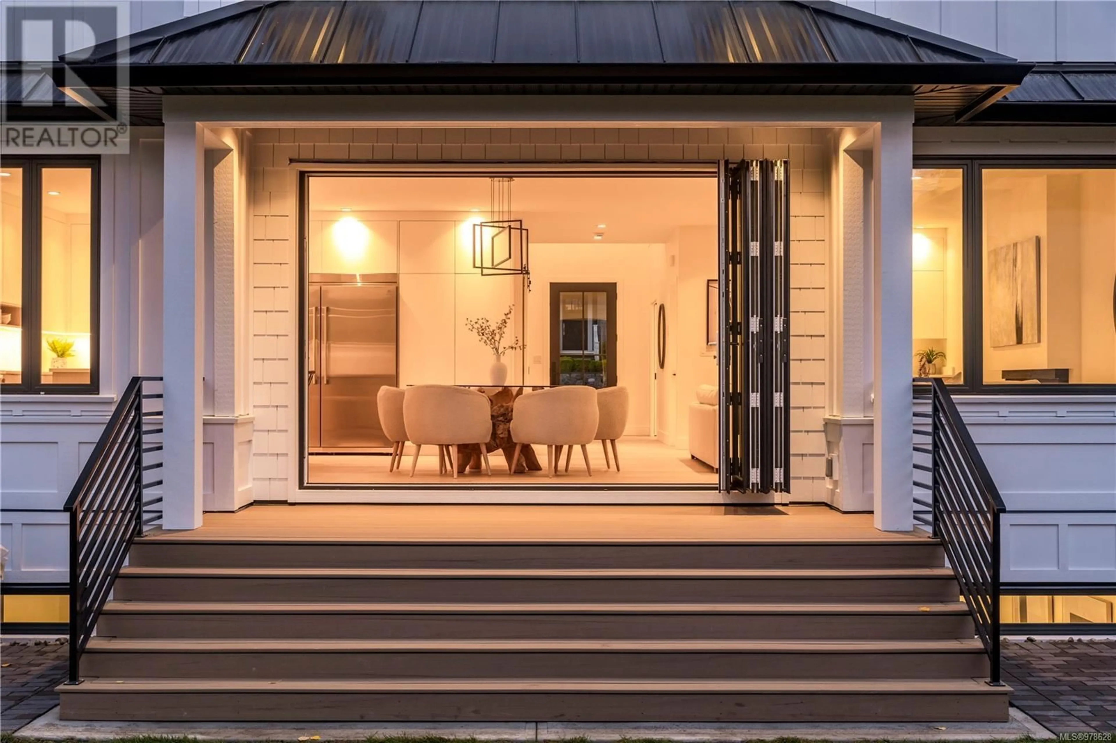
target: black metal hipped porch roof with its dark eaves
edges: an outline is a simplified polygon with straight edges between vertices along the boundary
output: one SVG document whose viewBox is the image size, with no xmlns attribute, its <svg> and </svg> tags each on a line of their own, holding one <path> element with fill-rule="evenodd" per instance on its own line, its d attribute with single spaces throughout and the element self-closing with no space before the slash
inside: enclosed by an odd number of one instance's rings
<svg viewBox="0 0 1116 743">
<path fill-rule="evenodd" d="M 920 120 L 968 116 L 1031 65 L 828 0 L 270 0 L 74 52 L 133 117 L 164 95 L 911 95 Z"/>
</svg>

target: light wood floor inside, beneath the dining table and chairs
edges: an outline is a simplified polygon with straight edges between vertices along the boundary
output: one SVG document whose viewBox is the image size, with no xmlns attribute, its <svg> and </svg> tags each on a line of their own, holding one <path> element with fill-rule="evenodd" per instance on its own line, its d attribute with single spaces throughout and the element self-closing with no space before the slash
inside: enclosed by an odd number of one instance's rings
<svg viewBox="0 0 1116 743">
<path fill-rule="evenodd" d="M 411 462 L 413 448 L 408 447 L 404 454 L 403 463 L 395 472 L 388 472 L 391 460 L 386 454 L 378 455 L 329 455 L 311 454 L 309 457 L 309 472 L 307 482 L 311 484 L 329 485 L 454 485 L 462 484 L 475 488 L 478 484 L 485 485 L 540 485 L 547 483 L 555 484 L 584 484 L 607 486 L 616 484 L 625 485 L 715 485 L 716 472 L 704 462 L 699 462 L 690 457 L 690 452 L 681 448 L 672 448 L 662 442 L 645 436 L 627 436 L 616 442 L 620 459 L 620 471 L 615 466 L 605 467 L 605 453 L 600 442 L 594 442 L 587 448 L 589 453 L 589 464 L 593 466 L 590 476 L 585 470 L 585 460 L 581 451 L 575 447 L 569 461 L 569 472 L 566 472 L 566 454 L 562 453 L 561 466 L 554 477 L 547 476 L 547 450 L 546 446 L 536 446 L 535 452 L 542 464 L 541 472 L 528 472 L 521 474 L 508 474 L 508 465 L 503 454 L 492 452 L 489 454 L 489 462 L 492 465 L 492 475 L 480 472 L 469 472 L 458 475 L 456 480 L 452 474 L 437 474 L 437 447 L 424 446 L 422 455 L 419 457 L 419 466 L 414 477 L 411 476 Z M 609 455 L 610 456 L 610 455 Z"/>
</svg>

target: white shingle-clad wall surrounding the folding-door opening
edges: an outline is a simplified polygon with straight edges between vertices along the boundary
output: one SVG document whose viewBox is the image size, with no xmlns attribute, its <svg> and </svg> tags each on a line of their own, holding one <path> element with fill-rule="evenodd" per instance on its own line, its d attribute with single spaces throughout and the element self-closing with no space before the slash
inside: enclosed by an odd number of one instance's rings
<svg viewBox="0 0 1116 743">
<path fill-rule="evenodd" d="M 252 453 L 258 500 L 297 486 L 296 172 L 291 158 L 577 162 L 788 158 L 791 167 L 791 409 L 796 501 L 825 498 L 828 129 L 269 128 L 256 129 L 252 184 Z"/>
</svg>

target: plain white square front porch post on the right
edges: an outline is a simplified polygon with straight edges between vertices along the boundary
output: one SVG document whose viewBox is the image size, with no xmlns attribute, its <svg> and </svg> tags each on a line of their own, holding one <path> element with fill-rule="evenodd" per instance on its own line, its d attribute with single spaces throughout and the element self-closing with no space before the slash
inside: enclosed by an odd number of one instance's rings
<svg viewBox="0 0 1116 743">
<path fill-rule="evenodd" d="M 873 152 L 873 489 L 875 524 L 908 531 L 914 419 L 911 387 L 912 119 L 883 120 Z"/>
</svg>

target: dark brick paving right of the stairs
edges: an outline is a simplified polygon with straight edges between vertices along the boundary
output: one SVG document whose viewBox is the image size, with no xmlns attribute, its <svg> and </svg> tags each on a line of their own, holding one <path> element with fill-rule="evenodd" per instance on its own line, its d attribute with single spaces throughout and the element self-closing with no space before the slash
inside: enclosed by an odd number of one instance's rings
<svg viewBox="0 0 1116 743">
<path fill-rule="evenodd" d="M 1116 640 L 1003 644 L 1011 703 L 1052 733 L 1116 732 Z"/>
</svg>

